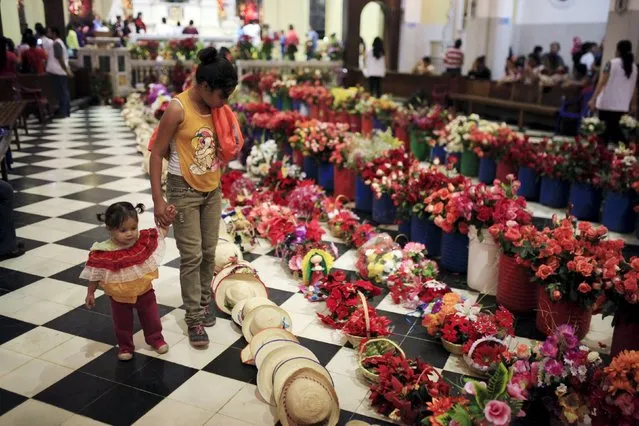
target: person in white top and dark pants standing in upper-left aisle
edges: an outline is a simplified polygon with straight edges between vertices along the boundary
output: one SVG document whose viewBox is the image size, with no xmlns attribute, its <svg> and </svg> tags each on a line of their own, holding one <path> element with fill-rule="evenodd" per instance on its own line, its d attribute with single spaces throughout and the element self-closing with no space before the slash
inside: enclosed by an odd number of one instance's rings
<svg viewBox="0 0 639 426">
<path fill-rule="evenodd" d="M 69 77 L 73 72 L 69 67 L 69 52 L 60 38 L 60 30 L 49 28 L 52 42 L 46 43 L 47 73 L 51 76 L 53 90 L 60 104 L 58 115 L 62 118 L 71 115 L 71 95 L 69 94 Z"/>
</svg>

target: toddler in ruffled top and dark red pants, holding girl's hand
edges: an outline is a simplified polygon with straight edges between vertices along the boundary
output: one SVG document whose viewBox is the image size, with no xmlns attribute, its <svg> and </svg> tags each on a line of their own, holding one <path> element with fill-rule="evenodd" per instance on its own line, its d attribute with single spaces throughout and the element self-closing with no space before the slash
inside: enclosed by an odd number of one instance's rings
<svg viewBox="0 0 639 426">
<path fill-rule="evenodd" d="M 167 216 L 175 216 L 168 207 Z M 164 354 L 169 345 L 162 336 L 162 323 L 152 281 L 158 277 L 158 266 L 164 256 L 167 229 L 138 231 L 138 213 L 144 205 L 120 202 L 98 214 L 111 238 L 91 247 L 80 278 L 89 281 L 86 306 L 95 306 L 95 290 L 102 287 L 111 299 L 113 328 L 118 341 L 120 361 L 133 358 L 133 309 L 138 311 L 144 339 L 157 353 Z"/>
</svg>

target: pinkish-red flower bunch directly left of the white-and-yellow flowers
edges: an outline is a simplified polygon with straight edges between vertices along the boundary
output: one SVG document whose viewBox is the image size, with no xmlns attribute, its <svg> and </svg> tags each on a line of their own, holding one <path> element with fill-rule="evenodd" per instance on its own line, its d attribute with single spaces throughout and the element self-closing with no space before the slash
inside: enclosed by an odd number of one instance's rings
<svg viewBox="0 0 639 426">
<path fill-rule="evenodd" d="M 293 148 L 301 150 L 305 156 L 326 162 L 333 148 L 344 141 L 347 129 L 348 125 L 345 124 L 309 120 L 298 124 L 289 142 Z"/>
</svg>

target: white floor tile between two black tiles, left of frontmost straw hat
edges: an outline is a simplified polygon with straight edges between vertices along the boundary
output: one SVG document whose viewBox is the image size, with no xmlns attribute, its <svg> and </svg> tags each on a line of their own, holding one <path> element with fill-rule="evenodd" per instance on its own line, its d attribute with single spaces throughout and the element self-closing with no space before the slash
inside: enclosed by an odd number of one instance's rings
<svg viewBox="0 0 639 426">
<path fill-rule="evenodd" d="M 239 362 L 239 361 L 238 361 Z M 245 383 L 217 374 L 198 371 L 169 395 L 170 399 L 217 412 L 244 387 Z M 247 411 L 246 409 L 243 411 Z M 237 416 L 237 414 L 236 414 Z M 267 424 L 267 423 L 264 423 Z"/>
</svg>

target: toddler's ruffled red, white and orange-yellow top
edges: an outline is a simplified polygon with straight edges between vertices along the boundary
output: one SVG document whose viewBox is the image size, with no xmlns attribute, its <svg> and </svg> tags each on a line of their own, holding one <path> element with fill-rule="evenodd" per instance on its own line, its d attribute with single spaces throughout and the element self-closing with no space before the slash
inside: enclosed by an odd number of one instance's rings
<svg viewBox="0 0 639 426">
<path fill-rule="evenodd" d="M 158 229 L 140 231 L 129 248 L 120 248 L 111 240 L 96 243 L 80 278 L 97 281 L 116 302 L 135 303 L 153 288 L 164 250 L 164 234 Z"/>
</svg>

